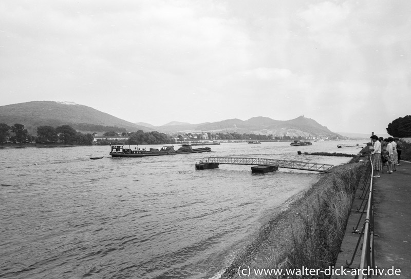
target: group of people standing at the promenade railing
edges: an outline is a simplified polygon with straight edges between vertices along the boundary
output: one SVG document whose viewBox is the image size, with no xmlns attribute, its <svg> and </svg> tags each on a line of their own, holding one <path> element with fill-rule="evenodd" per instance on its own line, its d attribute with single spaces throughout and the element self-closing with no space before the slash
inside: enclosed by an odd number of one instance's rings
<svg viewBox="0 0 411 279">
<path fill-rule="evenodd" d="M 401 165 L 402 144 L 398 137 L 378 137 L 372 135 L 370 137 L 373 142 L 372 147 L 372 165 L 375 173 L 372 177 L 380 177 L 380 172 L 384 173 L 384 166 L 387 167 L 387 173 L 392 174 L 397 171 L 396 166 Z"/>
</svg>

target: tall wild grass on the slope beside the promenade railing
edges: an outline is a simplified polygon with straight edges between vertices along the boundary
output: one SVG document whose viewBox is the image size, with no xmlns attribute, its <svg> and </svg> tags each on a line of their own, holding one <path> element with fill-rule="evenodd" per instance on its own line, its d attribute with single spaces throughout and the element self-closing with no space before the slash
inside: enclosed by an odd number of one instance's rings
<svg viewBox="0 0 411 279">
<path fill-rule="evenodd" d="M 324 270 L 334 265 L 363 170 L 364 164 L 347 164 L 319 181 L 316 199 L 292 226 L 292 248 L 283 262 L 285 267 Z"/>
</svg>

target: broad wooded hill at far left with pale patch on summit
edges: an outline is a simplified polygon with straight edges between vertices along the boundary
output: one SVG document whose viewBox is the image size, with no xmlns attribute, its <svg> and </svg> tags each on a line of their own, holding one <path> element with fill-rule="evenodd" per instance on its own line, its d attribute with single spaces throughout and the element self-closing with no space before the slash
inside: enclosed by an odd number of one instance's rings
<svg viewBox="0 0 411 279">
<path fill-rule="evenodd" d="M 152 128 L 139 126 L 117 118 L 108 113 L 98 111 L 71 102 L 33 101 L 0 107 L 0 123 L 11 126 L 23 124 L 30 134 L 35 135 L 37 127 L 49 125 L 57 127 L 70 125 L 83 133 L 107 132 L 144 132 Z"/>
</svg>

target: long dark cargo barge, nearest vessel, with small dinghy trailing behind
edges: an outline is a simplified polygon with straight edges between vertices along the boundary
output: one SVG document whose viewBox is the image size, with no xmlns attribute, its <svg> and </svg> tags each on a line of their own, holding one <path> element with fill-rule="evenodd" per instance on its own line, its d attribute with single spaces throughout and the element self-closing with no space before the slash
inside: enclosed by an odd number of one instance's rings
<svg viewBox="0 0 411 279">
<path fill-rule="evenodd" d="M 188 153 L 211 152 L 210 147 L 193 148 L 191 145 L 183 145 L 178 150 L 174 150 L 174 146 L 164 146 L 161 149 L 150 148 L 124 148 L 122 145 L 111 146 L 109 153 L 113 157 L 145 157 L 145 156 L 161 156 L 161 155 L 176 155 Z"/>
</svg>

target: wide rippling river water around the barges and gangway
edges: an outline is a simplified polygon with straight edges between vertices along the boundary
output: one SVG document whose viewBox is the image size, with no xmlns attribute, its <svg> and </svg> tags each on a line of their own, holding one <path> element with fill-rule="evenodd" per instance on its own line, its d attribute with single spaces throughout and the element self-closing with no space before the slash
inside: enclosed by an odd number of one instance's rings
<svg viewBox="0 0 411 279">
<path fill-rule="evenodd" d="M 350 158 L 297 151 L 356 154 L 361 149 L 337 144 L 357 143 L 223 143 L 212 153 L 144 158 L 114 158 L 108 146 L 0 149 L 0 277 L 217 278 L 322 174 L 195 170 L 196 162 L 244 156 L 340 165 Z"/>
</svg>

